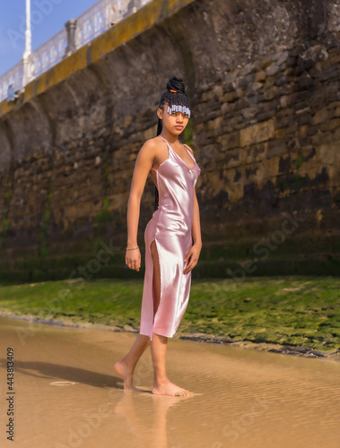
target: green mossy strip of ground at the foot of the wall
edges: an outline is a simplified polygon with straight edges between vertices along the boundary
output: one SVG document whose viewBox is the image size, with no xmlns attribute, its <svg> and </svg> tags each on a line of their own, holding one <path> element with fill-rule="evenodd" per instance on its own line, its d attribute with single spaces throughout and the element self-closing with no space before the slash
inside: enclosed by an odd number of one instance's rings
<svg viewBox="0 0 340 448">
<path fill-rule="evenodd" d="M 340 349 L 340 279 L 192 280 L 179 333 Z M 143 280 L 69 280 L 0 286 L 0 310 L 139 328 Z"/>
</svg>

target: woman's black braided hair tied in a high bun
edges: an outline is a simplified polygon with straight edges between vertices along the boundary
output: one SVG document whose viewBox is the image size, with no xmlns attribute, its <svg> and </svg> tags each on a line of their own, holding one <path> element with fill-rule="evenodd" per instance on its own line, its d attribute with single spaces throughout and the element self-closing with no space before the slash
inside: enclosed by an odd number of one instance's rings
<svg viewBox="0 0 340 448">
<path fill-rule="evenodd" d="M 161 95 L 161 101 L 158 108 L 161 108 L 164 112 L 163 108 L 164 105 L 167 103 L 170 108 L 172 108 L 172 105 L 176 105 L 190 109 L 190 102 L 185 93 L 186 86 L 184 85 L 184 83 L 180 78 L 178 78 L 177 76 L 173 76 L 172 78 L 170 78 L 170 80 L 167 82 L 166 88 L 167 91 Z M 176 92 L 170 90 L 176 90 Z M 158 118 L 157 135 L 161 134 L 161 129 L 162 129 L 161 118 Z M 157 186 L 154 185 L 155 211 L 158 209 L 158 201 L 159 201 L 158 189 Z"/>
</svg>

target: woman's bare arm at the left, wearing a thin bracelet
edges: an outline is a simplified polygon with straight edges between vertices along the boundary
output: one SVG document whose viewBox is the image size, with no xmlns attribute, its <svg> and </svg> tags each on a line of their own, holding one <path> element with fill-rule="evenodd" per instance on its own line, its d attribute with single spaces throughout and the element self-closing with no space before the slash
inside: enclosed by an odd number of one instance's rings
<svg viewBox="0 0 340 448">
<path fill-rule="evenodd" d="M 130 194 L 127 202 L 127 248 L 136 247 L 139 213 L 144 186 L 150 169 L 153 167 L 156 143 L 153 139 L 144 142 L 135 159 L 134 174 L 132 177 Z M 135 264 L 134 264 L 135 263 Z M 141 267 L 141 253 L 139 249 L 126 250 L 126 264 L 130 269 L 139 271 Z"/>
</svg>

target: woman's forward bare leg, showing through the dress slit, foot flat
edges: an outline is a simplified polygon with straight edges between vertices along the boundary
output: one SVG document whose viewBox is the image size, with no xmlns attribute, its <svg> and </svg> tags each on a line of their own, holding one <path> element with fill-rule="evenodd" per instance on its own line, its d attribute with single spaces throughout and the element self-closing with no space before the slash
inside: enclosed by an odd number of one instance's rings
<svg viewBox="0 0 340 448">
<path fill-rule="evenodd" d="M 153 314 L 156 313 L 160 305 L 161 298 L 161 272 L 158 258 L 157 246 L 153 241 L 151 245 L 153 255 L 153 290 L 154 303 Z M 166 374 L 166 353 L 168 338 L 160 334 L 153 333 L 153 340 L 150 343 L 151 354 L 153 358 L 153 393 L 157 395 L 189 395 L 190 392 L 181 389 L 174 383 L 171 383 Z"/>
</svg>

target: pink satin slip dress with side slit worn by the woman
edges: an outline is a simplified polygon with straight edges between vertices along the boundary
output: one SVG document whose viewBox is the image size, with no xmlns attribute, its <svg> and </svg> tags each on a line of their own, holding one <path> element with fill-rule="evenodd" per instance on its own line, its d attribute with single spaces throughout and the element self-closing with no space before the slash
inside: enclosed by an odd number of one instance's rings
<svg viewBox="0 0 340 448">
<path fill-rule="evenodd" d="M 153 333 L 172 338 L 187 308 L 191 271 L 183 273 L 189 262 L 184 258 L 193 243 L 191 226 L 195 185 L 201 172 L 187 148 L 193 161 L 191 167 L 170 147 L 169 142 L 163 140 L 168 146 L 168 159 L 158 169 L 152 168 L 156 172 L 159 206 L 144 231 L 145 274 L 139 332 L 149 336 L 150 340 Z M 161 299 L 154 319 L 153 240 L 161 271 Z"/>
</svg>

